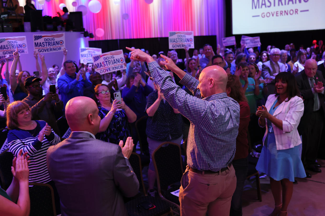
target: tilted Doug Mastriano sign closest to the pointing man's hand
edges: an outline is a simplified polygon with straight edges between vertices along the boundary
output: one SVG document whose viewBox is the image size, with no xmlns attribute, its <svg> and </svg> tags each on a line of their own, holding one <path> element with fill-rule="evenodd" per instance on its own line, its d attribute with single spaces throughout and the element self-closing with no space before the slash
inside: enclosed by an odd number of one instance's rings
<svg viewBox="0 0 325 216">
<path fill-rule="evenodd" d="M 126 69 L 123 50 L 105 52 L 103 54 L 93 56 L 92 58 L 93 64 L 97 66 L 95 70 L 100 74 L 107 74 Z"/>
</svg>

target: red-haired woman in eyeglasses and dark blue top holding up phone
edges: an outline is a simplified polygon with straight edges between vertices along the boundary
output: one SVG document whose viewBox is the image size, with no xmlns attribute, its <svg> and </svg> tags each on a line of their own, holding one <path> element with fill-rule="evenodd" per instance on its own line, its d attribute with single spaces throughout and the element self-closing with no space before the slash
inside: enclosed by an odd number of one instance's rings
<svg viewBox="0 0 325 216">
<path fill-rule="evenodd" d="M 95 97 L 98 106 L 98 115 L 101 118 L 99 131 L 96 138 L 105 142 L 119 144 L 120 140 L 126 141 L 130 136 L 127 123 L 136 121 L 136 114 L 123 101 L 111 102 L 110 90 L 107 85 L 95 86 Z M 121 102 L 121 103 L 119 103 Z"/>
</svg>

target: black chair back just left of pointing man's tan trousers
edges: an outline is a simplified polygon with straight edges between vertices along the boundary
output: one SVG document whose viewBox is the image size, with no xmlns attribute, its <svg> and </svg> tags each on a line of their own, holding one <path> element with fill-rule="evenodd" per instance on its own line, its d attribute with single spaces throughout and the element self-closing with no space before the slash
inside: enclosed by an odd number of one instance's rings
<svg viewBox="0 0 325 216">
<path fill-rule="evenodd" d="M 163 142 L 152 153 L 152 161 L 157 176 L 158 192 L 180 182 L 183 175 L 181 148 L 174 142 Z"/>
</svg>

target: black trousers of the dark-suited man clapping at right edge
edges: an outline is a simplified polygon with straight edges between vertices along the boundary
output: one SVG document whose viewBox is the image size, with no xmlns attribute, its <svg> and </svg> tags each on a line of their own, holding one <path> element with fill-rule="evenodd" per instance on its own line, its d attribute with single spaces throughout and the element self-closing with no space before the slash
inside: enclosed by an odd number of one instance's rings
<svg viewBox="0 0 325 216">
<path fill-rule="evenodd" d="M 302 154 L 301 160 L 304 166 L 315 164 L 320 139 L 324 127 L 324 111 L 320 108 L 309 115 L 307 124 L 302 132 Z"/>
</svg>

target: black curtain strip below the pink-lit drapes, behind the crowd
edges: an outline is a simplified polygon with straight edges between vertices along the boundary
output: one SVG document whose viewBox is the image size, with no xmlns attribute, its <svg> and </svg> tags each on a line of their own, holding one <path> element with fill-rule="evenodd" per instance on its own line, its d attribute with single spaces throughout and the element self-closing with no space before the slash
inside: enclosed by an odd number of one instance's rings
<svg viewBox="0 0 325 216">
<path fill-rule="evenodd" d="M 199 50 L 204 44 L 210 44 L 212 47 L 217 47 L 217 38 L 215 35 L 211 36 L 194 36 L 194 47 Z M 102 52 L 113 50 L 123 50 L 129 53 L 125 47 L 135 47 L 139 49 L 148 50 L 150 55 L 156 54 L 160 51 L 167 52 L 170 50 L 168 45 L 168 38 L 139 38 L 139 39 L 118 39 L 118 40 L 93 40 L 89 41 L 89 47 L 101 48 Z M 179 59 L 185 59 L 184 49 L 176 49 Z M 194 49 L 189 50 L 189 55 L 192 57 Z"/>
</svg>

